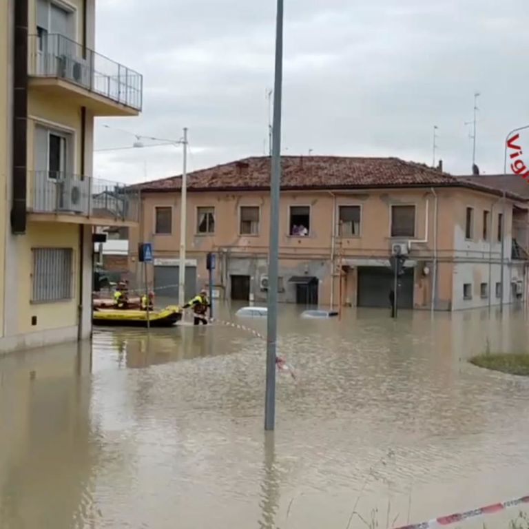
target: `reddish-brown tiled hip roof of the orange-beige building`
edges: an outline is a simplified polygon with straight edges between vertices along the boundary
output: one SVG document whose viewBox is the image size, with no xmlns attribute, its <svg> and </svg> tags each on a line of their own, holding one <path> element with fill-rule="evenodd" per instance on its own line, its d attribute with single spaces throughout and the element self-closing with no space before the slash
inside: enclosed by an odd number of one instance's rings
<svg viewBox="0 0 529 529">
<path fill-rule="evenodd" d="M 245 158 L 187 176 L 189 191 L 258 191 L 269 189 L 271 160 L 268 156 Z M 178 191 L 181 176 L 132 186 L 145 192 Z M 370 189 L 377 187 L 466 187 L 501 194 L 470 180 L 457 178 L 424 164 L 400 158 L 352 158 L 338 156 L 282 156 L 284 190 Z M 511 194 L 512 195 L 512 194 Z M 523 200 L 521 196 L 510 196 Z"/>
</svg>

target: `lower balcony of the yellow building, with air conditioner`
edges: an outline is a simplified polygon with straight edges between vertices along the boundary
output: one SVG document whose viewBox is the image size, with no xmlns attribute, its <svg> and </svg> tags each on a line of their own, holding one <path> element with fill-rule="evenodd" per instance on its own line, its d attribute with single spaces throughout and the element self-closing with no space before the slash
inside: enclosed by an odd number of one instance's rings
<svg viewBox="0 0 529 529">
<path fill-rule="evenodd" d="M 30 220 L 135 227 L 140 193 L 125 184 L 49 171 L 30 172 Z"/>
</svg>

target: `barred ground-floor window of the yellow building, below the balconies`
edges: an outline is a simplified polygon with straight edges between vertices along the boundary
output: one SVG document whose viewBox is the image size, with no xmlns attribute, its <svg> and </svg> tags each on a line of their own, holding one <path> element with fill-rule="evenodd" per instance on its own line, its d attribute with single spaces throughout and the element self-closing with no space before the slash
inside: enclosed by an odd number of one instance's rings
<svg viewBox="0 0 529 529">
<path fill-rule="evenodd" d="M 71 248 L 33 248 L 32 302 L 72 298 Z"/>
</svg>

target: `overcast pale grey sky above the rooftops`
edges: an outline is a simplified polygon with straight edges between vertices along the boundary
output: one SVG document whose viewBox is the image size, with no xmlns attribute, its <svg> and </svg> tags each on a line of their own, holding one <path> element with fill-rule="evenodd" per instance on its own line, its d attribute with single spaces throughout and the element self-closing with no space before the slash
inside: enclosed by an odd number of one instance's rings
<svg viewBox="0 0 529 529">
<path fill-rule="evenodd" d="M 284 154 L 399 156 L 501 172 L 506 133 L 529 122 L 527 0 L 284 0 Z M 139 118 L 100 118 L 96 149 L 178 139 L 190 170 L 262 155 L 275 0 L 98 0 L 96 49 L 144 76 Z M 107 125 L 107 128 L 104 125 Z M 95 154 L 96 176 L 180 174 L 175 147 Z"/>
</svg>

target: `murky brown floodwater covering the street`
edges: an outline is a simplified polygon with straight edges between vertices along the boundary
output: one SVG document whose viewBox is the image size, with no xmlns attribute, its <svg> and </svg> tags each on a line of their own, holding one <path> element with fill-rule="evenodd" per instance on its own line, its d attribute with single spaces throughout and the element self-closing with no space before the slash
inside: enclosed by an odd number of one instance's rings
<svg viewBox="0 0 529 529">
<path fill-rule="evenodd" d="M 285 306 L 279 326 L 298 377 L 278 376 L 273 435 L 265 344 L 240 329 L 97 329 L 92 349 L 0 358 L 0 528 L 387 528 L 529 494 L 529 380 L 466 362 L 527 351 L 523 310 Z"/>
</svg>

